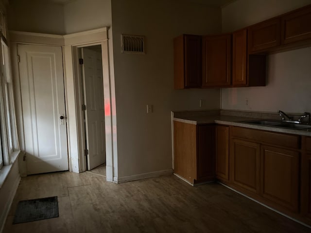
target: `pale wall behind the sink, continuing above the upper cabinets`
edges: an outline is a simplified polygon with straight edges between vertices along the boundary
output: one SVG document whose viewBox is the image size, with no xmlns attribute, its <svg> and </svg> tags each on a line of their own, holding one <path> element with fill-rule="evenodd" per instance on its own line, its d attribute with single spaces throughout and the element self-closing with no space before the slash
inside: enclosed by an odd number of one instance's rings
<svg viewBox="0 0 311 233">
<path fill-rule="evenodd" d="M 311 0 L 237 0 L 222 8 L 222 30 L 232 32 L 307 4 Z M 267 86 L 223 88 L 222 108 L 311 112 L 310 57 L 310 47 L 269 55 Z"/>
</svg>

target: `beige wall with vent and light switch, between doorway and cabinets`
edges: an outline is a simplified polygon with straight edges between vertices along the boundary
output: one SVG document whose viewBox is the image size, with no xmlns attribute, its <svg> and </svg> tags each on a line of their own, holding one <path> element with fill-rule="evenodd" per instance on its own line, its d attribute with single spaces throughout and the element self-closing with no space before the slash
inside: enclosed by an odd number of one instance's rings
<svg viewBox="0 0 311 233">
<path fill-rule="evenodd" d="M 219 33 L 220 8 L 178 0 L 112 1 L 119 178 L 172 168 L 171 111 L 219 108 L 219 89 L 173 89 L 173 38 Z M 144 35 L 146 54 L 122 54 L 121 33 Z M 154 113 L 146 113 L 153 104 Z"/>
</svg>

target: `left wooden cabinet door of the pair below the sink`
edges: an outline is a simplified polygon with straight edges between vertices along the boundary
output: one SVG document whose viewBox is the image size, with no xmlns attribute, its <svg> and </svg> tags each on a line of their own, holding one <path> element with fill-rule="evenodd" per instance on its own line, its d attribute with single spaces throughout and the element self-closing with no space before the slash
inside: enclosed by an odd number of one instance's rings
<svg viewBox="0 0 311 233">
<path fill-rule="evenodd" d="M 260 145 L 233 138 L 230 141 L 230 181 L 259 194 Z"/>
</svg>

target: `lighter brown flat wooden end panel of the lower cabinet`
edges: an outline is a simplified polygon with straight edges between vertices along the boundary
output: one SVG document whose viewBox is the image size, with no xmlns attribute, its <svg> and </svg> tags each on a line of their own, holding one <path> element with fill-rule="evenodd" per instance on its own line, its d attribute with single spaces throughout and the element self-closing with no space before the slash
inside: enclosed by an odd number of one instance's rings
<svg viewBox="0 0 311 233">
<path fill-rule="evenodd" d="M 174 121 L 174 173 L 196 179 L 196 125 Z"/>
</svg>

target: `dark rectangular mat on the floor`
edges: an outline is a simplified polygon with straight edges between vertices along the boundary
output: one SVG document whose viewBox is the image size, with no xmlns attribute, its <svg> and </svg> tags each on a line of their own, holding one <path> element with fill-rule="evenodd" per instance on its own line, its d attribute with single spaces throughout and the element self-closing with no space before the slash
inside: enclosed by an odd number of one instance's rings
<svg viewBox="0 0 311 233">
<path fill-rule="evenodd" d="M 18 202 L 13 224 L 58 217 L 57 197 L 21 200 Z"/>
</svg>

